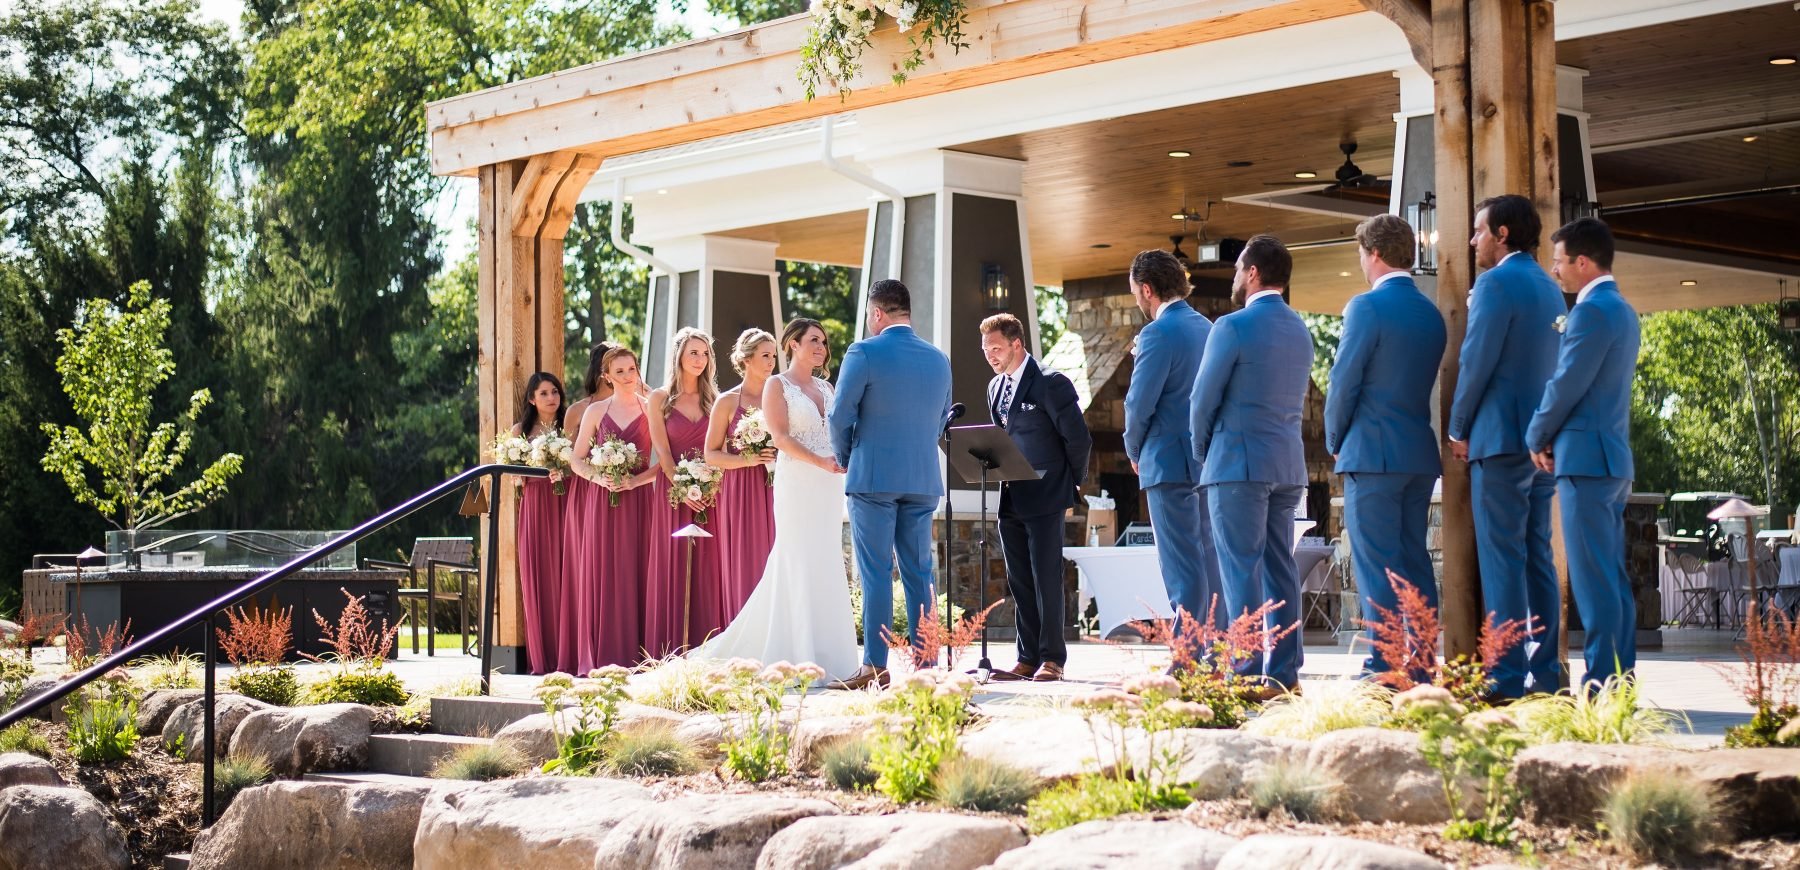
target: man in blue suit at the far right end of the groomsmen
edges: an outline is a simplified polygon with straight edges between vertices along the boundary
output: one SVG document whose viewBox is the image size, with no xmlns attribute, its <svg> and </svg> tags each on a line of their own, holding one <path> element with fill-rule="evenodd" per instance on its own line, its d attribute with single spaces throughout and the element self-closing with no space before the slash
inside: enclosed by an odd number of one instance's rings
<svg viewBox="0 0 1800 870">
<path fill-rule="evenodd" d="M 1557 319 L 1557 373 L 1532 414 L 1532 461 L 1555 474 L 1568 542 L 1570 591 L 1588 630 L 1584 683 L 1593 688 L 1638 665 L 1638 609 L 1625 576 L 1625 497 L 1631 461 L 1631 375 L 1638 312 L 1613 281 L 1613 231 L 1580 218 L 1550 236 L 1550 272 L 1575 308 Z"/>
</svg>

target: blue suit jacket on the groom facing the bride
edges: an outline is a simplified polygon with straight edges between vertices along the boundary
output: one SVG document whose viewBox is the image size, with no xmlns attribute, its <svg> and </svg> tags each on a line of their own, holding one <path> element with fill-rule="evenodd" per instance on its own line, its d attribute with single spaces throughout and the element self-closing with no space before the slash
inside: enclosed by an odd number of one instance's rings
<svg viewBox="0 0 1800 870">
<path fill-rule="evenodd" d="M 938 438 L 949 414 L 950 358 L 911 326 L 851 344 L 832 405 L 844 492 L 943 495 Z"/>
</svg>

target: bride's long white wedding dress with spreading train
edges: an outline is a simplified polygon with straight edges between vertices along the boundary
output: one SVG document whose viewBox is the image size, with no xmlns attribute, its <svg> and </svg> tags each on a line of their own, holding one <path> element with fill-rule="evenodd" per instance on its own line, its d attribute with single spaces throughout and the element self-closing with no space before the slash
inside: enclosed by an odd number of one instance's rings
<svg viewBox="0 0 1800 870">
<path fill-rule="evenodd" d="M 788 434 L 806 450 L 832 456 L 832 432 L 819 405 L 797 385 L 781 380 Z M 835 393 L 814 378 L 830 414 Z M 691 657 L 747 657 L 761 663 L 810 661 L 832 677 L 848 677 L 862 665 L 850 618 L 850 578 L 844 571 L 844 476 L 776 454 L 776 542 L 756 591 L 724 632 Z M 729 521 L 727 521 L 729 522 Z"/>
</svg>

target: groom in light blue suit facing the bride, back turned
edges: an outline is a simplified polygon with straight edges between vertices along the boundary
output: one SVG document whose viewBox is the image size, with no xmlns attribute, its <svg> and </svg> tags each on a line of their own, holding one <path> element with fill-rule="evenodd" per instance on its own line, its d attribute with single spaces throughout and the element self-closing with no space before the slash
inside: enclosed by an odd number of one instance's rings
<svg viewBox="0 0 1800 870">
<path fill-rule="evenodd" d="M 950 358 L 913 331 L 913 294 L 869 286 L 869 337 L 844 351 L 832 450 L 848 470 L 850 539 L 862 582 L 862 666 L 832 688 L 887 686 L 893 566 L 900 557 L 907 639 L 932 607 L 931 515 L 943 497 L 938 436 L 950 414 Z"/>
</svg>

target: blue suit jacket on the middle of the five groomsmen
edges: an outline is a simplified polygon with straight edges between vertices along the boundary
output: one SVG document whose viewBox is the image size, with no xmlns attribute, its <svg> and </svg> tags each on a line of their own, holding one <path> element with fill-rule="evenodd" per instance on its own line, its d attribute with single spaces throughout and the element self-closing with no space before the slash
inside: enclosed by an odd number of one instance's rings
<svg viewBox="0 0 1800 870">
<path fill-rule="evenodd" d="M 1431 430 L 1444 340 L 1444 315 L 1408 276 L 1350 299 L 1325 394 L 1325 449 L 1337 474 L 1444 472 Z"/>
</svg>

